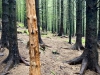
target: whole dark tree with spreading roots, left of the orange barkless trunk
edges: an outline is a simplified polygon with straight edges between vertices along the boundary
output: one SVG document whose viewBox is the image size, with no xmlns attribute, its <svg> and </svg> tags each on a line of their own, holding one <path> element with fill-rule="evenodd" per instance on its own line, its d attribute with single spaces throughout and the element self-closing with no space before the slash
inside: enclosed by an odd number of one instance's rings
<svg viewBox="0 0 100 75">
<path fill-rule="evenodd" d="M 9 4 L 8 8 L 5 10 L 9 10 L 6 13 L 9 12 L 9 36 L 8 39 L 8 49 L 9 49 L 9 55 L 8 57 L 3 61 L 3 63 L 6 63 L 3 72 L 0 75 L 6 75 L 9 69 L 12 67 L 18 65 L 20 61 L 24 62 L 26 65 L 29 65 L 25 62 L 25 60 L 20 56 L 18 51 L 18 42 L 17 42 L 17 25 L 16 25 L 16 0 L 6 0 L 6 3 Z"/>
</svg>

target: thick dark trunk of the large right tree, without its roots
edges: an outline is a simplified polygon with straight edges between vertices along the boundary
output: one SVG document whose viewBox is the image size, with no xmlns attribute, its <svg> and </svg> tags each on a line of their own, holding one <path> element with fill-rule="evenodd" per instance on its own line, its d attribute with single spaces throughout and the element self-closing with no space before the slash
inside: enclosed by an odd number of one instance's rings
<svg viewBox="0 0 100 75">
<path fill-rule="evenodd" d="M 87 53 L 88 68 L 97 69 L 98 52 L 97 52 L 97 0 L 86 1 L 86 43 L 84 52 Z M 100 69 L 99 69 L 100 72 Z"/>
</svg>

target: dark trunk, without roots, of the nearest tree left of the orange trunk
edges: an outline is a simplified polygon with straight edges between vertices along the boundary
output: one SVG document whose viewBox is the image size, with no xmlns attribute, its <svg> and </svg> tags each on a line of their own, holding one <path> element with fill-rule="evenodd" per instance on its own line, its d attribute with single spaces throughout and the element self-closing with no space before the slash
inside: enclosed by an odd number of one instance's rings
<svg viewBox="0 0 100 75">
<path fill-rule="evenodd" d="M 17 42 L 16 0 L 9 0 L 9 12 L 9 58 L 16 65 L 20 62 Z"/>
</svg>

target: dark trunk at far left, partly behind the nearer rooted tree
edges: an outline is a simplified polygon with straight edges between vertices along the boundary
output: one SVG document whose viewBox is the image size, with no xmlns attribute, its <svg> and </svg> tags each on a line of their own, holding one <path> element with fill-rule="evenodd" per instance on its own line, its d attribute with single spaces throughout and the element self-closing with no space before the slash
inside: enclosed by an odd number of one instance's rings
<svg viewBox="0 0 100 75">
<path fill-rule="evenodd" d="M 1 43 L 3 47 L 8 47 L 9 44 L 9 2 L 2 0 L 2 35 Z"/>
</svg>

